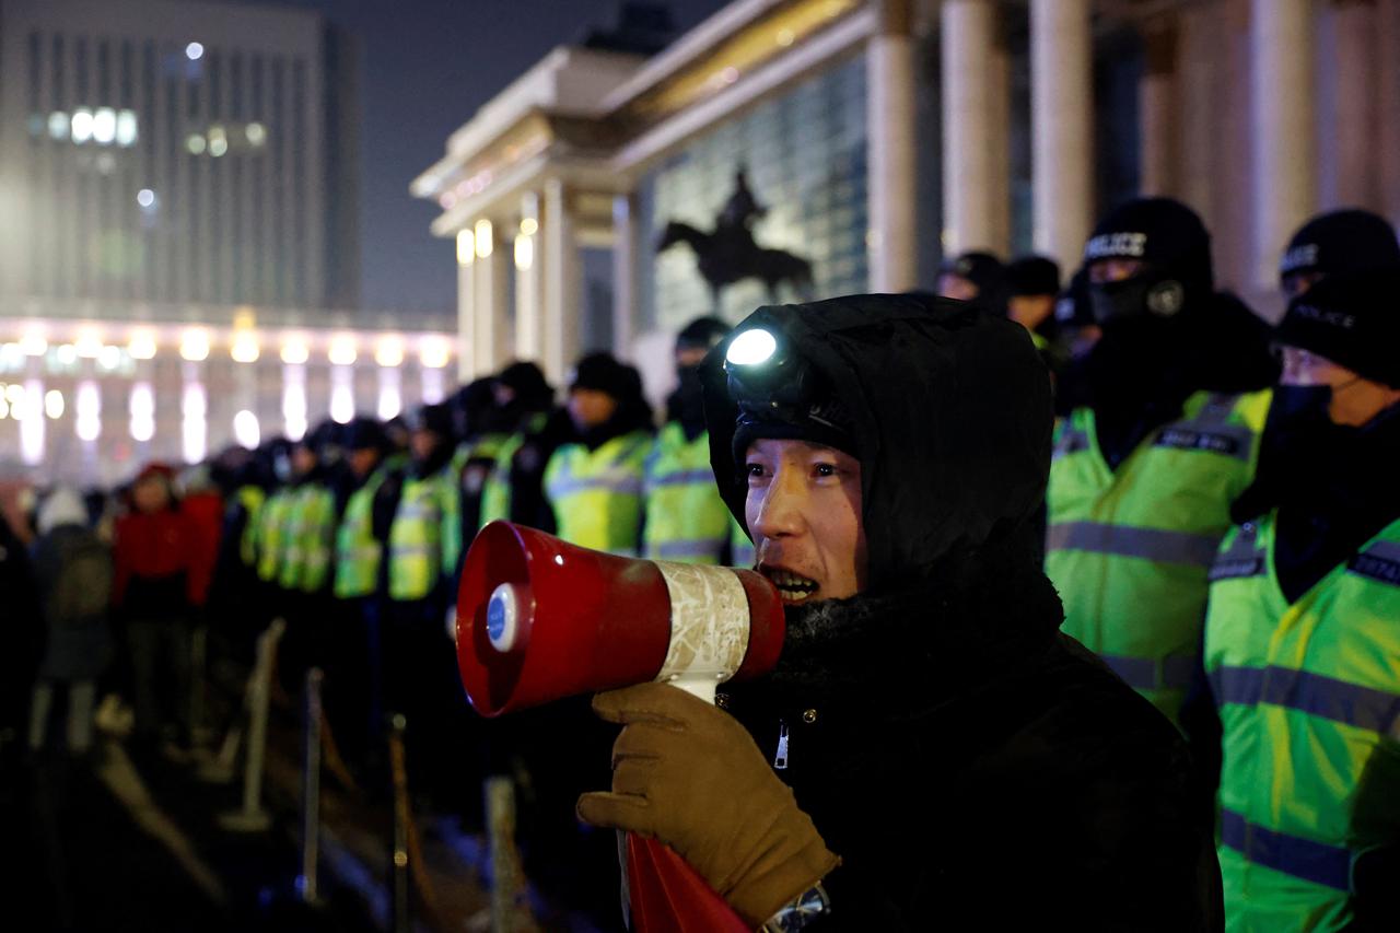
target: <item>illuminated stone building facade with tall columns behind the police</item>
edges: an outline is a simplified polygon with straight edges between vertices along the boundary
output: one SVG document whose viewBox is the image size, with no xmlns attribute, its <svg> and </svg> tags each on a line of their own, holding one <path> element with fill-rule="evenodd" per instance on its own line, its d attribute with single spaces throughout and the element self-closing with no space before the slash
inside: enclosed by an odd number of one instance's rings
<svg viewBox="0 0 1400 933">
<path fill-rule="evenodd" d="M 1396 48 L 1400 0 L 736 0 L 658 55 L 556 49 L 412 193 L 458 242 L 463 377 L 524 357 L 560 380 L 606 347 L 658 394 L 696 314 L 930 287 L 967 249 L 1068 275 L 1137 193 L 1200 212 L 1219 284 L 1275 317 L 1310 214 L 1400 219 Z M 721 227 L 809 283 L 711 289 Z M 582 307 L 591 251 L 608 321 Z"/>
</svg>

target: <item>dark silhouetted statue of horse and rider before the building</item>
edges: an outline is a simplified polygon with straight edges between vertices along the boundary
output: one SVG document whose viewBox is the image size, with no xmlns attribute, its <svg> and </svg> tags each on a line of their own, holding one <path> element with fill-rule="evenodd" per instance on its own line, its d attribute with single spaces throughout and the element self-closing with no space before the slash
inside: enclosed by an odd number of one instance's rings
<svg viewBox="0 0 1400 933">
<path fill-rule="evenodd" d="M 774 303 L 778 300 L 778 286 L 784 282 L 799 298 L 809 297 L 812 263 L 784 249 L 766 249 L 755 242 L 750 227 L 767 209 L 753 198 L 742 167 L 735 172 L 734 181 L 735 191 L 720 212 L 713 231 L 672 220 L 657 240 L 657 252 L 678 242 L 687 244 L 696 255 L 700 276 L 710 284 L 715 311 L 720 311 L 720 293 L 724 287 L 743 279 L 763 282 L 769 300 Z"/>
</svg>

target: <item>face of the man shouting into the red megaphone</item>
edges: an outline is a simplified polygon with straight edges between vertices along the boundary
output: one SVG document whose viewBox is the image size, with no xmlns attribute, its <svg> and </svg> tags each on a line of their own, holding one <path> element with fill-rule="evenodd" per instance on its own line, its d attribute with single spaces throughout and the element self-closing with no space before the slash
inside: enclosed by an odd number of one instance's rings
<svg viewBox="0 0 1400 933">
<path fill-rule="evenodd" d="M 759 572 L 783 602 L 841 600 L 865 588 L 861 464 L 830 447 L 757 440 L 745 457 Z"/>
</svg>

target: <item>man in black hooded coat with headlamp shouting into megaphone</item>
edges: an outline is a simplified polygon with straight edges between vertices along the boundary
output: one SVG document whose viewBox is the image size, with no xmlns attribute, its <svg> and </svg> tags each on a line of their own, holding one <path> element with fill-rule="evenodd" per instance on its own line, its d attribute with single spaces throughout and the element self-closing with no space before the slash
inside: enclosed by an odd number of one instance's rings
<svg viewBox="0 0 1400 933">
<path fill-rule="evenodd" d="M 783 653 L 728 712 L 598 695 L 623 730 L 580 817 L 661 839 L 750 927 L 1219 929 L 1182 740 L 1058 630 L 1025 329 L 910 296 L 767 307 L 706 391 Z"/>
</svg>

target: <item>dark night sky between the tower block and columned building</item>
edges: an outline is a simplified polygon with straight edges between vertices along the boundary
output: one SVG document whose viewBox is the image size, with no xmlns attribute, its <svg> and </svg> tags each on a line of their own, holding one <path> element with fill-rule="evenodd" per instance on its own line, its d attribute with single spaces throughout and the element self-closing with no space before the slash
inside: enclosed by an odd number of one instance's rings
<svg viewBox="0 0 1400 933">
<path fill-rule="evenodd" d="M 241 1 L 241 0 L 239 0 Z M 428 233 L 437 206 L 409 182 L 448 134 L 557 45 L 616 22 L 617 0 L 260 0 L 319 10 L 361 49 L 361 301 L 456 305 L 454 245 Z M 671 0 L 678 32 L 725 0 Z"/>
</svg>

